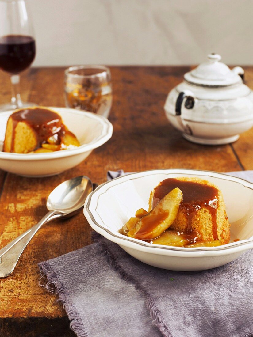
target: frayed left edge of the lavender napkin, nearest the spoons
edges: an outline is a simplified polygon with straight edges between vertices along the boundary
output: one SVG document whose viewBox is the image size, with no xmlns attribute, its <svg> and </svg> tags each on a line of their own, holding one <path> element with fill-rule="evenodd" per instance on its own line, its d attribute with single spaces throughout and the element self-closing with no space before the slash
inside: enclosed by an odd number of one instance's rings
<svg viewBox="0 0 253 337">
<path fill-rule="evenodd" d="M 55 272 L 51 269 L 48 261 L 38 263 L 39 266 L 39 274 L 43 278 L 46 276 L 47 282 L 44 284 L 40 284 L 41 286 L 47 288 L 49 292 L 55 293 L 59 295 L 57 302 L 61 302 L 63 304 L 63 308 L 66 311 L 70 322 L 70 328 L 75 332 L 78 337 L 87 337 L 88 334 L 84 328 L 84 324 L 81 316 L 78 313 L 78 310 L 74 303 L 68 296 L 67 290 L 62 286 L 59 280 L 56 277 Z M 54 290 L 52 291 L 52 284 L 54 286 Z"/>
</svg>

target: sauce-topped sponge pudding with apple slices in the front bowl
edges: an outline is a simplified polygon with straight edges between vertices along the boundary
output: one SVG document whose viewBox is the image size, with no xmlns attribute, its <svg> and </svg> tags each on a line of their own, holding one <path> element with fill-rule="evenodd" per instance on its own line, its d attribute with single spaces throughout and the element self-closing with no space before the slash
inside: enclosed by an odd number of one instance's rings
<svg viewBox="0 0 253 337">
<path fill-rule="evenodd" d="M 140 209 L 135 215 L 120 233 L 149 243 L 215 247 L 230 239 L 222 192 L 207 180 L 165 179 L 150 194 L 149 212 Z"/>
</svg>

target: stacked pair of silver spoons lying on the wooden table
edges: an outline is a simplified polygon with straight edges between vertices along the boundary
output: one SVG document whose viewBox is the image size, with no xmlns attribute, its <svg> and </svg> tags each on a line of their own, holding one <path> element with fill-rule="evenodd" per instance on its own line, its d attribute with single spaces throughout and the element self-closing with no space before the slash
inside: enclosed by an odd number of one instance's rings
<svg viewBox="0 0 253 337">
<path fill-rule="evenodd" d="M 87 195 L 96 187 L 97 184 L 92 184 L 85 176 L 72 178 L 58 185 L 48 196 L 49 212 L 35 226 L 0 250 L 0 278 L 13 272 L 23 250 L 44 223 L 78 213 Z"/>
</svg>

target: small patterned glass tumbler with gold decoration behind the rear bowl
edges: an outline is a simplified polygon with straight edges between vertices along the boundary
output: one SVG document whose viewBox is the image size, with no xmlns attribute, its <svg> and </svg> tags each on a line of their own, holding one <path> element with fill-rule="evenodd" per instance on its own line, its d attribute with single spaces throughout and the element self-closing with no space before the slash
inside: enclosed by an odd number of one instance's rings
<svg viewBox="0 0 253 337">
<path fill-rule="evenodd" d="M 73 66 L 65 70 L 65 105 L 108 118 L 112 106 L 109 68 L 101 65 Z"/>
</svg>

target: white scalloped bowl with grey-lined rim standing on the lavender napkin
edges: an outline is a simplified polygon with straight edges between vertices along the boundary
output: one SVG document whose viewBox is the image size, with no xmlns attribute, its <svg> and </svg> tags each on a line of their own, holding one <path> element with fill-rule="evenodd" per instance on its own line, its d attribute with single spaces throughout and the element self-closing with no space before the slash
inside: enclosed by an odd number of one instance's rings
<svg viewBox="0 0 253 337">
<path fill-rule="evenodd" d="M 230 243 L 220 247 L 182 248 L 153 245 L 118 233 L 139 208 L 148 209 L 151 190 L 166 178 L 199 177 L 223 192 L 231 223 Z M 225 174 L 198 170 L 152 170 L 106 182 L 86 199 L 84 215 L 91 227 L 130 255 L 151 266 L 196 271 L 225 265 L 253 248 L 253 184 Z M 240 241 L 233 242 L 239 238 Z"/>
</svg>

